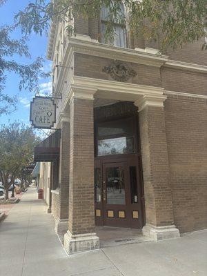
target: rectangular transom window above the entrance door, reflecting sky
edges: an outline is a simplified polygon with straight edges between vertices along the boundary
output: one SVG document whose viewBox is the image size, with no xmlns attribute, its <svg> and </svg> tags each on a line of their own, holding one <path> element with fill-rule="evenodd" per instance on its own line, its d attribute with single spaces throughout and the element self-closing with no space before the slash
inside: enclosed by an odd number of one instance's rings
<svg viewBox="0 0 207 276">
<path fill-rule="evenodd" d="M 134 152 L 134 137 L 119 137 L 98 141 L 98 156 Z"/>
</svg>

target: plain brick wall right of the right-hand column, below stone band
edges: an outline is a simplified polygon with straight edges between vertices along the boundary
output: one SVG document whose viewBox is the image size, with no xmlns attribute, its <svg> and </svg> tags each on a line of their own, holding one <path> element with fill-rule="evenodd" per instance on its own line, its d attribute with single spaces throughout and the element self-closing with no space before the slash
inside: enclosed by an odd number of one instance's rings
<svg viewBox="0 0 207 276">
<path fill-rule="evenodd" d="M 206 115 L 204 101 L 165 102 L 173 210 L 181 232 L 207 228 Z"/>
</svg>

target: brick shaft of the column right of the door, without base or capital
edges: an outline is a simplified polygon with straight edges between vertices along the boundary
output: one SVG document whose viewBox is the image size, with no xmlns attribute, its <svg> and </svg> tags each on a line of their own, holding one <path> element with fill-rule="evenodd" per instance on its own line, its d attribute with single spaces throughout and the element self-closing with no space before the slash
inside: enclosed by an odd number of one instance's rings
<svg viewBox="0 0 207 276">
<path fill-rule="evenodd" d="M 155 226 L 172 225 L 174 221 L 164 109 L 147 106 L 141 110 L 139 128 L 146 222 Z"/>
</svg>

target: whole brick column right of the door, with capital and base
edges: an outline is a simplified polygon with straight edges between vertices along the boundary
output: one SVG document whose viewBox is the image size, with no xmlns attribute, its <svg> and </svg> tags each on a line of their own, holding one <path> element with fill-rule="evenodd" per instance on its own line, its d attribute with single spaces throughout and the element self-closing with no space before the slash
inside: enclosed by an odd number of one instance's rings
<svg viewBox="0 0 207 276">
<path fill-rule="evenodd" d="M 146 226 L 143 234 L 158 241 L 179 237 L 172 210 L 172 191 L 164 117 L 163 95 L 144 95 L 139 107 L 139 130 L 144 177 Z"/>
</svg>

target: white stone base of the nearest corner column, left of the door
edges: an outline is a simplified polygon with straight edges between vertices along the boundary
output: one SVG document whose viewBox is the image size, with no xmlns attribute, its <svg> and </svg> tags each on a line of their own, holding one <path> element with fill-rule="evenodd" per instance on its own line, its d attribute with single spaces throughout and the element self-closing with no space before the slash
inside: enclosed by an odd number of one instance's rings
<svg viewBox="0 0 207 276">
<path fill-rule="evenodd" d="M 96 233 L 72 235 L 68 230 L 64 235 L 64 248 L 69 255 L 99 249 L 99 237 Z"/>
</svg>

